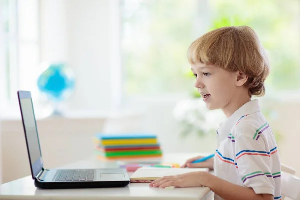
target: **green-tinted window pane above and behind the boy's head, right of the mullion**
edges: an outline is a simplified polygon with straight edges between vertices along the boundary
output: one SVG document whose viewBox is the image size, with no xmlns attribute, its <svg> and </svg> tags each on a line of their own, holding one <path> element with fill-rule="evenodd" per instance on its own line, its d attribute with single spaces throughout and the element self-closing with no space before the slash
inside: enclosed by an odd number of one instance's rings
<svg viewBox="0 0 300 200">
<path fill-rule="evenodd" d="M 257 32 L 270 58 L 267 89 L 300 89 L 299 0 L 209 0 L 209 5 L 209 29 L 248 25 Z"/>
</svg>

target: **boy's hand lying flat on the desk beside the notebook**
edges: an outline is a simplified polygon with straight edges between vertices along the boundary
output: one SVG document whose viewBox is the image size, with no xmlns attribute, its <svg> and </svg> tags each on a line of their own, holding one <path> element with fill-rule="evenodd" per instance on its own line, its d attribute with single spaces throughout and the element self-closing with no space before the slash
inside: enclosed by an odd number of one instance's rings
<svg viewBox="0 0 300 200">
<path fill-rule="evenodd" d="M 175 176 L 164 176 L 150 183 L 150 187 L 201 187 L 209 179 L 208 172 L 196 171 Z"/>
</svg>

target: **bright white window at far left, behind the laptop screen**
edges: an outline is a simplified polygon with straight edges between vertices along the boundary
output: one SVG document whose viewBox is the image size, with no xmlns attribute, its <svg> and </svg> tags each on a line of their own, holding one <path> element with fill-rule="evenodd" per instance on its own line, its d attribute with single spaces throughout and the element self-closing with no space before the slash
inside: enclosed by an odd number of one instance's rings
<svg viewBox="0 0 300 200">
<path fill-rule="evenodd" d="M 2 0 L 1 29 L 4 44 L 1 56 L 1 107 L 17 102 L 16 91 L 36 87 L 39 65 L 39 1 Z"/>
</svg>

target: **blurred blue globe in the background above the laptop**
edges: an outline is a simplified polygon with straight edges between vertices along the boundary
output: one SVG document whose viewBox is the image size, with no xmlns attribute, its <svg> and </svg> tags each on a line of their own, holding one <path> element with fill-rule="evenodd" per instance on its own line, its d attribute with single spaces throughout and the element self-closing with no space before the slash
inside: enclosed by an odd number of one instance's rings
<svg viewBox="0 0 300 200">
<path fill-rule="evenodd" d="M 54 102 L 61 102 L 73 92 L 75 78 L 65 64 L 50 64 L 38 77 L 39 91 Z"/>
</svg>

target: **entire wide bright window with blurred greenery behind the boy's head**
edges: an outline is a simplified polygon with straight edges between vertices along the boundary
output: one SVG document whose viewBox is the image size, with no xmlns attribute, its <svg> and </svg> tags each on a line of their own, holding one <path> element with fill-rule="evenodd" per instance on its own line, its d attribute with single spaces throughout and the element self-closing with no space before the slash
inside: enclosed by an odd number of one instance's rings
<svg viewBox="0 0 300 200">
<path fill-rule="evenodd" d="M 300 89 L 299 0 L 122 0 L 121 13 L 125 96 L 191 91 L 188 46 L 230 25 L 252 27 L 266 48 L 267 91 Z"/>
</svg>

